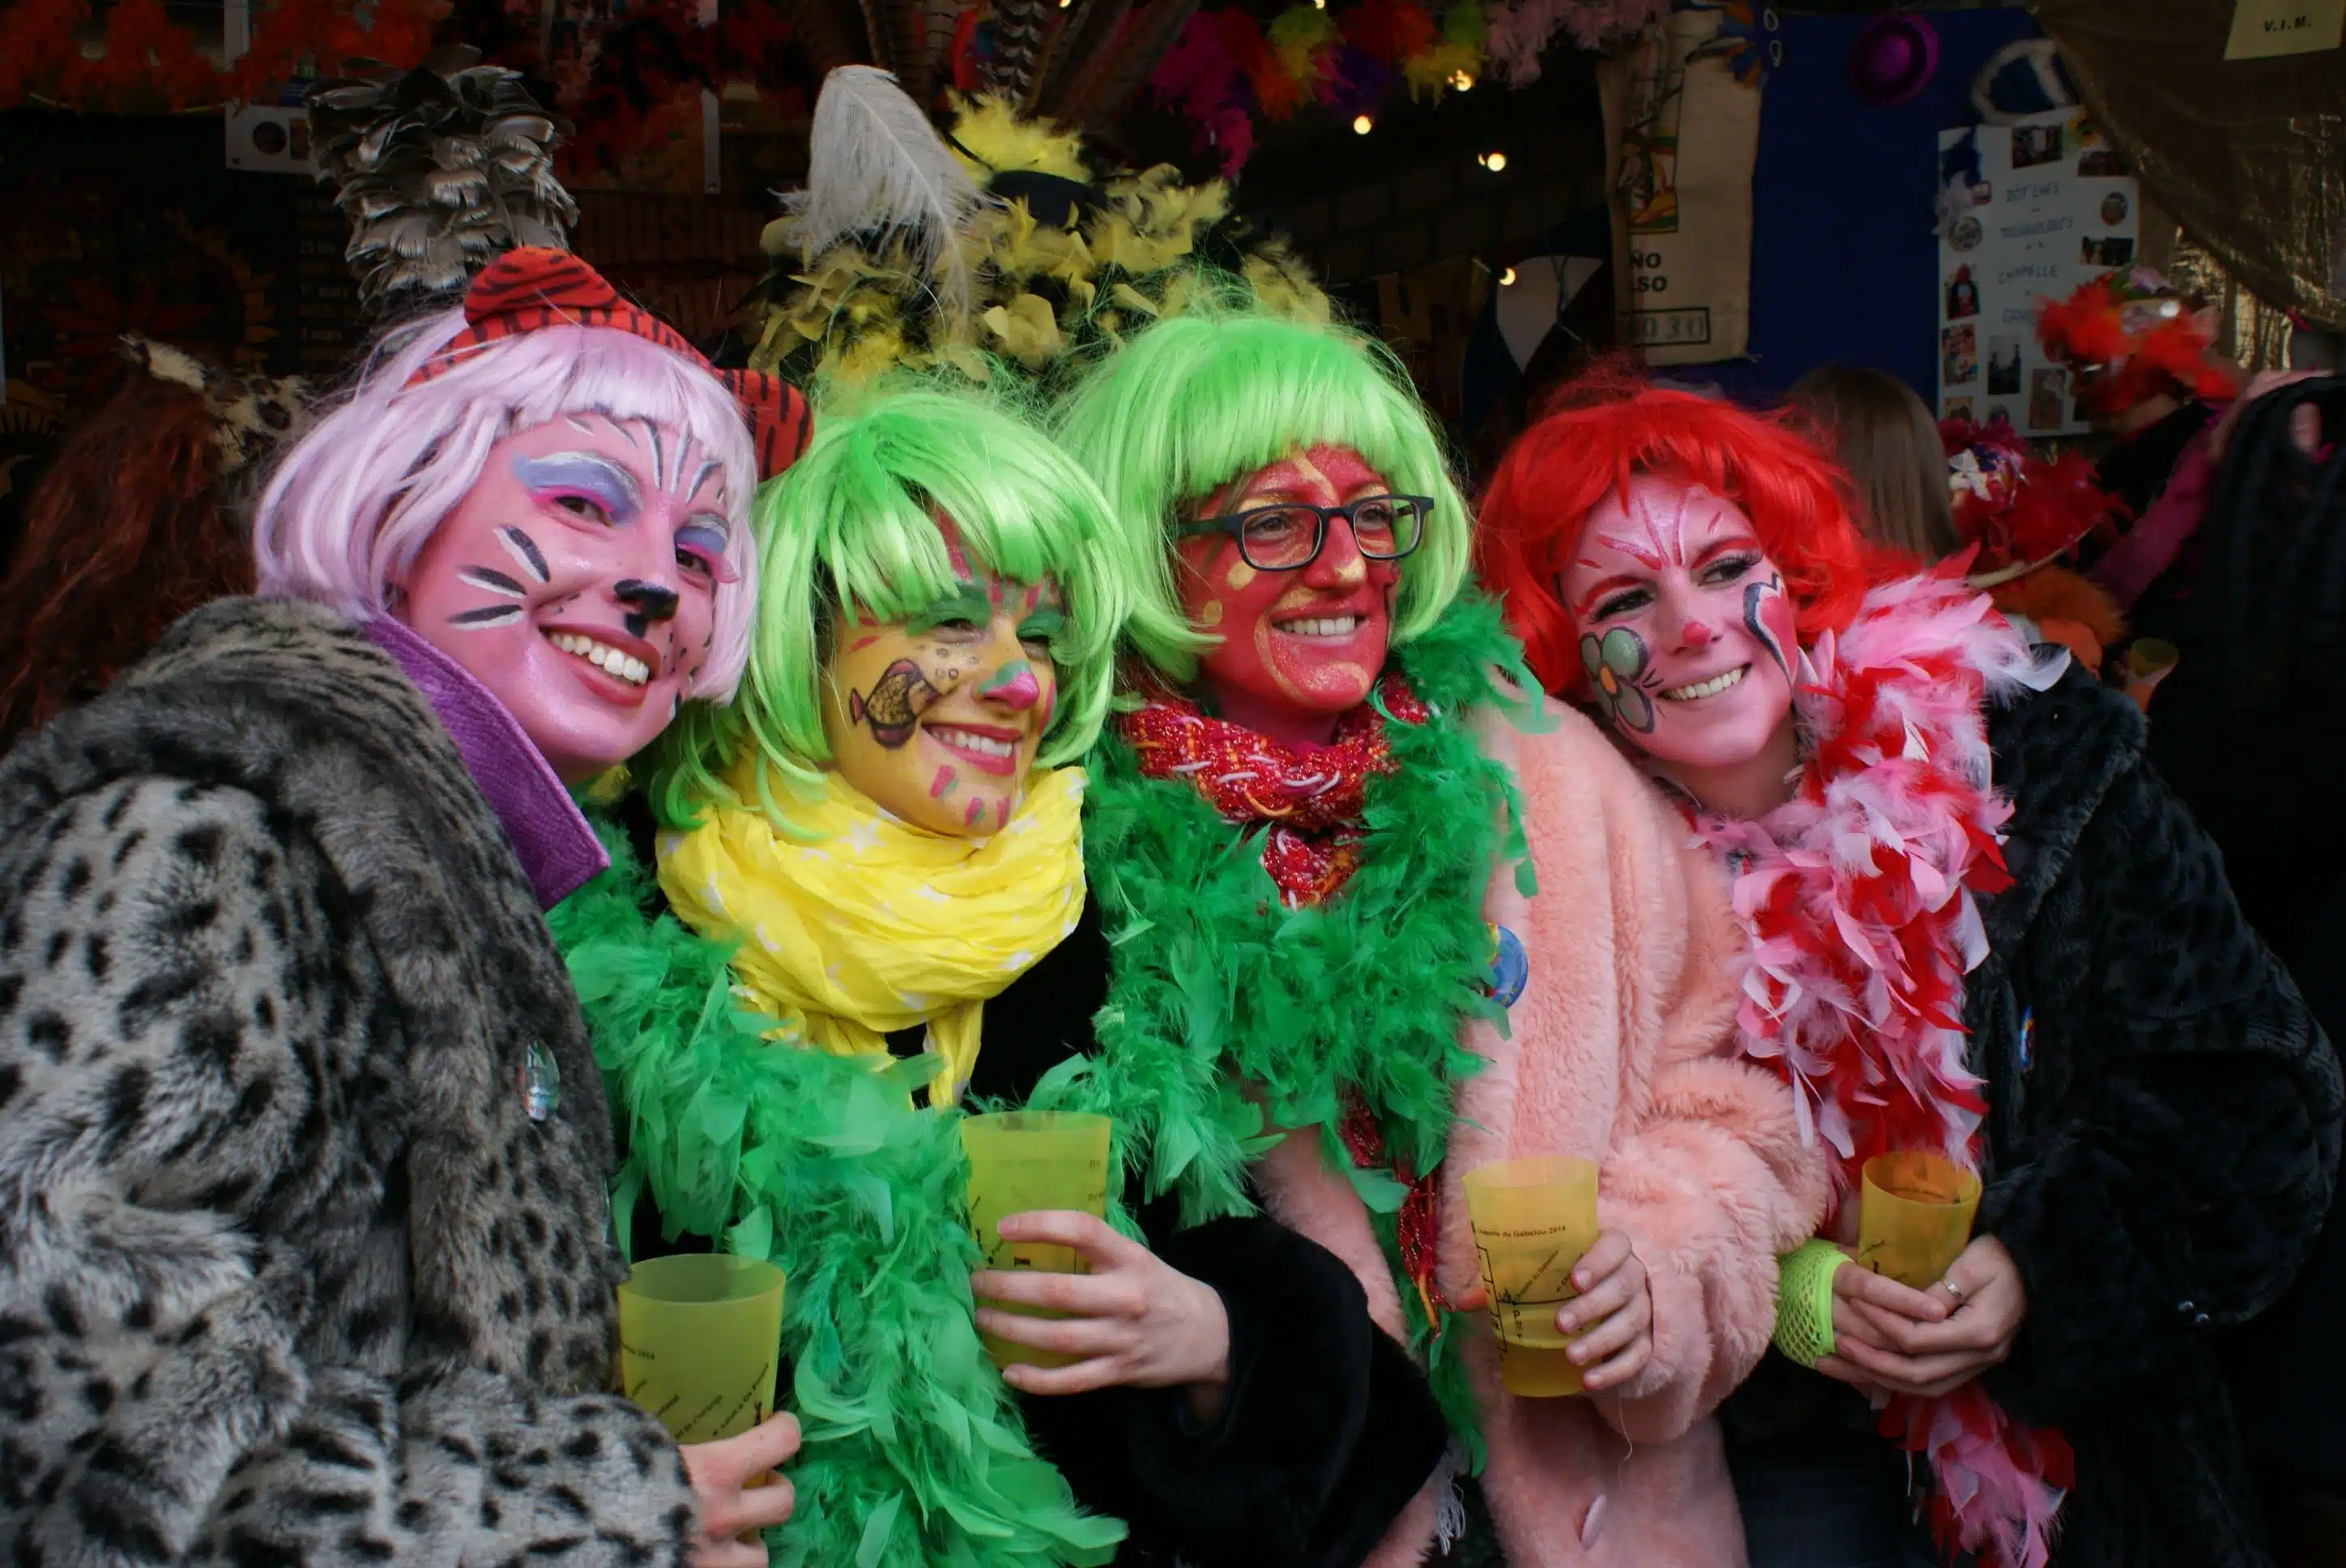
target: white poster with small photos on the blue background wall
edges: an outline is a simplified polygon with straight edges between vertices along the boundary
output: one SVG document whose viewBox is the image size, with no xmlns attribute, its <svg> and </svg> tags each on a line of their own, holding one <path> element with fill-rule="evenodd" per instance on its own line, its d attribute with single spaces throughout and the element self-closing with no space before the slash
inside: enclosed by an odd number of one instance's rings
<svg viewBox="0 0 2346 1568">
<path fill-rule="evenodd" d="M 1938 413 L 2003 415 L 2022 436 L 2086 429 L 2067 366 L 2036 347 L 2036 302 L 2135 263 L 2135 180 L 2083 110 L 1938 134 L 1980 173 L 1938 237 Z"/>
</svg>

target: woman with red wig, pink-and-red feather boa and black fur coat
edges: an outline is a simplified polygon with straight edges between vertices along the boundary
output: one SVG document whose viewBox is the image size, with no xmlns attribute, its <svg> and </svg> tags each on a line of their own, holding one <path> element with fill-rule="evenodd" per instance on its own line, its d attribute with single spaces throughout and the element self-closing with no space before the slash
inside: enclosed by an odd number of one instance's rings
<svg viewBox="0 0 2346 1568">
<path fill-rule="evenodd" d="M 1717 851 L 1743 1050 L 1835 1153 L 1727 1411 L 1752 1563 L 1924 1561 L 1898 1448 L 1942 1552 L 2262 1563 L 2212 1341 L 2320 1228 L 2337 1062 L 2135 705 L 1839 495 L 1781 422 L 1605 377 L 1506 455 L 1478 541 L 1539 677 Z M 1891 1151 L 1985 1186 L 1928 1289 L 1835 1245 Z"/>
</svg>

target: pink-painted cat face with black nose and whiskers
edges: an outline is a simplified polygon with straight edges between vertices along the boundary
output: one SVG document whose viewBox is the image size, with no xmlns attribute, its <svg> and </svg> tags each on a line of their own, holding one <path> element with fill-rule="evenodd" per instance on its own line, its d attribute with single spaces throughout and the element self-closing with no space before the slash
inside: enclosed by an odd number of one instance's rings
<svg viewBox="0 0 2346 1568">
<path fill-rule="evenodd" d="M 481 480 L 394 572 L 394 614 L 579 783 L 643 750 L 692 696 L 727 527 L 725 476 L 690 436 L 563 417 L 490 448 Z"/>
</svg>

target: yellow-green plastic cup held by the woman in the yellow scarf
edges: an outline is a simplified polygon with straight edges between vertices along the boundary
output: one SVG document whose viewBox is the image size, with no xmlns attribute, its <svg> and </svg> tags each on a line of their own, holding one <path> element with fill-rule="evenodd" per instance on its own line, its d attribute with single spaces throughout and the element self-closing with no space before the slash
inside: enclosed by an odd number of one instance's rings
<svg viewBox="0 0 2346 1568">
<path fill-rule="evenodd" d="M 1074 1247 L 1006 1242 L 995 1228 L 1011 1214 L 1077 1209 L 1107 1216 L 1107 1134 L 1114 1123 L 1084 1111 L 997 1111 L 962 1118 L 962 1153 L 969 1155 L 969 1233 L 985 1254 L 985 1268 L 1032 1268 L 1049 1275 L 1084 1273 Z M 983 1305 L 1025 1317 L 1063 1317 L 1046 1308 L 1006 1301 Z M 1077 1357 L 1035 1350 L 978 1331 L 995 1366 L 1067 1366 Z"/>
</svg>

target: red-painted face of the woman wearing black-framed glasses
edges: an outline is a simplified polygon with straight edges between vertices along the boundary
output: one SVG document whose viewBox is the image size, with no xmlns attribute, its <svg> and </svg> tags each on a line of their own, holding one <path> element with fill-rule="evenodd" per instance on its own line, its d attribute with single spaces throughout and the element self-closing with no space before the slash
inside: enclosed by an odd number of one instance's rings
<svg viewBox="0 0 2346 1568">
<path fill-rule="evenodd" d="M 1279 502 L 1340 506 L 1389 490 L 1358 452 L 1311 448 L 1239 476 L 1192 516 Z M 1199 668 L 1225 717 L 1272 741 L 1325 741 L 1337 715 L 1368 701 L 1384 670 L 1401 567 L 1361 555 L 1349 523 L 1330 523 L 1318 558 L 1300 572 L 1257 572 L 1220 532 L 1173 548 L 1182 612 L 1220 638 Z"/>
</svg>

